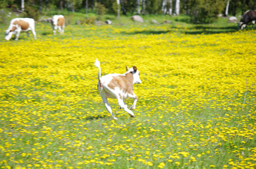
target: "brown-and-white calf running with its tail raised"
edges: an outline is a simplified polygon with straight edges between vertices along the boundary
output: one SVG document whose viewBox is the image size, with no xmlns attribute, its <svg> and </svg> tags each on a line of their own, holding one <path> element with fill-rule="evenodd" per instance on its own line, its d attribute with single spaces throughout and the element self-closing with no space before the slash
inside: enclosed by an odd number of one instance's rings
<svg viewBox="0 0 256 169">
<path fill-rule="evenodd" d="M 134 114 L 130 110 L 135 109 L 138 98 L 133 92 L 132 84 L 141 84 L 139 71 L 136 66 L 133 66 L 130 69 L 127 67 L 127 72 L 124 74 L 113 73 L 102 77 L 100 77 L 101 69 L 98 59 L 95 61 L 95 66 L 98 67 L 97 88 L 108 112 L 111 113 L 115 120 L 117 120 L 117 117 L 112 113 L 111 107 L 107 101 L 107 98 L 116 98 L 118 100 L 119 108 L 124 109 L 131 117 L 134 117 Z M 133 104 L 130 109 L 127 108 L 127 105 L 124 102 L 127 98 L 133 98 Z"/>
</svg>

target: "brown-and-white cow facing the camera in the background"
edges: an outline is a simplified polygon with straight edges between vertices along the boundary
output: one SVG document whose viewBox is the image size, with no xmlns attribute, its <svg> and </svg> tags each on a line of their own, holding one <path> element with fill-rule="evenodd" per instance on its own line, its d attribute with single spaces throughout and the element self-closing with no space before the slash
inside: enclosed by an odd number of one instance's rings
<svg viewBox="0 0 256 169">
<path fill-rule="evenodd" d="M 53 27 L 53 34 L 56 34 L 56 29 L 58 29 L 60 33 L 64 33 L 65 18 L 63 15 L 54 15 L 53 18 L 49 20 Z"/>
</svg>

